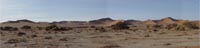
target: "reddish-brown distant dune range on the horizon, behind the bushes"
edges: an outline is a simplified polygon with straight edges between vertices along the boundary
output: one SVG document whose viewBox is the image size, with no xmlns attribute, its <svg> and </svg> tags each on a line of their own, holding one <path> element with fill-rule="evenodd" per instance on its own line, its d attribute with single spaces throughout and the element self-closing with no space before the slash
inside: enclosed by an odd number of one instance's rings
<svg viewBox="0 0 200 48">
<path fill-rule="evenodd" d="M 7 22 L 2 22 L 2 24 L 12 24 L 12 23 L 32 23 L 32 24 L 60 24 L 60 25 L 102 25 L 102 24 L 110 24 L 116 20 L 111 19 L 111 18 L 101 18 L 97 20 L 91 20 L 91 21 L 58 21 L 58 22 L 34 22 L 31 20 L 27 19 L 22 19 L 22 20 L 16 20 L 16 21 L 7 21 Z M 154 25 L 154 24 L 183 24 L 184 22 L 192 22 L 197 25 L 200 24 L 200 20 L 195 20 L 195 21 L 189 21 L 189 20 L 181 20 L 181 19 L 174 19 L 172 17 L 166 17 L 160 20 L 145 20 L 145 21 L 140 21 L 140 20 L 124 20 L 125 23 L 127 24 L 146 24 L 146 25 Z"/>
</svg>

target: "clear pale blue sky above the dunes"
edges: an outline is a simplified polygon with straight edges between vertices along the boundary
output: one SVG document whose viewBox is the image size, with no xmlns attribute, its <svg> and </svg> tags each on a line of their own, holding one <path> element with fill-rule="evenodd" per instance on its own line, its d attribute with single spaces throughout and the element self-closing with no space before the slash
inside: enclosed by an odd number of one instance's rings
<svg viewBox="0 0 200 48">
<path fill-rule="evenodd" d="M 0 0 L 0 22 L 113 19 L 200 20 L 199 0 Z"/>
</svg>

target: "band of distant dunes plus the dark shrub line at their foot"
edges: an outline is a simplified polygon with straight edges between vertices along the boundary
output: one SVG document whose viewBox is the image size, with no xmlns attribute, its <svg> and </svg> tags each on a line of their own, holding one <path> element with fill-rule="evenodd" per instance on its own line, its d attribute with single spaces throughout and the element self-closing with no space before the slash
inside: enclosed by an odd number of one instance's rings
<svg viewBox="0 0 200 48">
<path fill-rule="evenodd" d="M 91 21 L 58 21 L 58 22 L 34 22 L 27 19 L 7 21 L 0 23 L 0 27 L 48 27 L 52 25 L 57 25 L 59 27 L 72 27 L 72 28 L 90 28 L 90 27 L 104 27 L 112 29 L 168 29 L 168 30 L 191 30 L 200 29 L 200 20 L 190 21 L 174 19 L 171 17 L 166 17 L 160 20 L 114 20 L 111 18 L 101 18 Z"/>
</svg>

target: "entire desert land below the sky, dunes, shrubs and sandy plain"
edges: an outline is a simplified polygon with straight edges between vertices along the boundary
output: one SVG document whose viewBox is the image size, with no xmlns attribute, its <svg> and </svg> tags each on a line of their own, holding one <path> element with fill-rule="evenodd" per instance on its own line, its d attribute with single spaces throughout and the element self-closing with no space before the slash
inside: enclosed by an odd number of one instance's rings
<svg viewBox="0 0 200 48">
<path fill-rule="evenodd" d="M 200 48 L 200 20 L 0 23 L 0 48 Z"/>
</svg>

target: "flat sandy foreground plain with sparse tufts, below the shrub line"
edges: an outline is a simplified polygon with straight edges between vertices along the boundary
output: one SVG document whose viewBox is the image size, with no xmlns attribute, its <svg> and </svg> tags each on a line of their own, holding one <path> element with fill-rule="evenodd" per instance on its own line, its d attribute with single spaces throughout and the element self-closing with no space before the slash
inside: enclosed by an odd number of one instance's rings
<svg viewBox="0 0 200 48">
<path fill-rule="evenodd" d="M 18 32 L 26 35 L 19 36 Z M 192 31 L 1 31 L 1 48 L 200 48 Z M 10 39 L 20 41 L 7 43 Z"/>
</svg>

